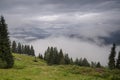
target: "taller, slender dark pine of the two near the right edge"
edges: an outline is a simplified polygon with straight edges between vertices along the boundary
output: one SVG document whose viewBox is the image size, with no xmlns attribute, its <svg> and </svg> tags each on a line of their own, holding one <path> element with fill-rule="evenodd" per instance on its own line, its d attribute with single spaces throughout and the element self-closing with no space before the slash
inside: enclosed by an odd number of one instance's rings
<svg viewBox="0 0 120 80">
<path fill-rule="evenodd" d="M 116 48 L 116 45 L 113 44 L 113 47 L 111 48 L 111 53 L 109 55 L 109 62 L 108 62 L 108 66 L 110 69 L 115 69 L 115 55 L 116 55 L 115 48 Z"/>
</svg>

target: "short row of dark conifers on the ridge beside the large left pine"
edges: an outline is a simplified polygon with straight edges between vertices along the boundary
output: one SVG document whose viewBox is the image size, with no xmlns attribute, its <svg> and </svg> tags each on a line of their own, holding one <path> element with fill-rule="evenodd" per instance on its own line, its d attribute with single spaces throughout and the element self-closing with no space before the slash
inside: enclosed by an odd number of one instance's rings
<svg viewBox="0 0 120 80">
<path fill-rule="evenodd" d="M 16 43 L 16 41 L 13 41 L 11 45 L 11 50 L 13 53 L 35 56 L 35 51 L 32 45 L 23 45 L 20 42 Z"/>
</svg>

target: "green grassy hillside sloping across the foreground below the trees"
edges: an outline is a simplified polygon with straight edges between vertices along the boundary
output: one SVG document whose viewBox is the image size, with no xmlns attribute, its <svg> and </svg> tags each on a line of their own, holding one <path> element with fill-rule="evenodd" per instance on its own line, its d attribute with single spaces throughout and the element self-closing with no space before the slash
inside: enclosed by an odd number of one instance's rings
<svg viewBox="0 0 120 80">
<path fill-rule="evenodd" d="M 14 54 L 12 69 L 0 69 L 0 80 L 120 80 L 120 70 L 93 69 L 75 65 L 48 66 L 43 60 Z"/>
</svg>

